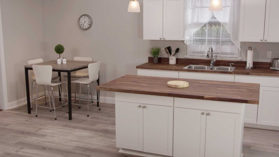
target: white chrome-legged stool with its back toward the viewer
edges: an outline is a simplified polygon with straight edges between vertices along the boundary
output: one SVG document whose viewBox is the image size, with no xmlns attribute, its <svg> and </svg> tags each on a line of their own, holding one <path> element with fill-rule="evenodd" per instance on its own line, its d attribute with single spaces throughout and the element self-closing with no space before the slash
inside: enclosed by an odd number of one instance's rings
<svg viewBox="0 0 279 157">
<path fill-rule="evenodd" d="M 33 71 L 34 71 L 34 74 L 35 74 L 35 77 L 36 77 L 36 83 L 38 84 L 38 86 L 37 86 L 37 94 L 36 94 L 36 117 L 37 117 L 37 107 L 43 107 L 43 108 L 49 108 L 50 110 L 53 109 L 54 110 L 54 117 L 55 117 L 55 120 L 56 120 L 56 111 L 55 110 L 57 108 L 65 106 L 68 103 L 65 103 L 63 101 L 63 102 L 61 102 L 62 103 L 61 106 L 55 107 L 55 101 L 54 101 L 54 97 L 53 97 L 53 86 L 58 85 L 58 88 L 59 88 L 59 90 L 61 92 L 61 86 L 60 85 L 65 83 L 66 91 L 68 91 L 67 90 L 67 82 L 52 81 L 51 80 L 52 66 L 50 66 L 50 65 L 32 65 L 32 68 L 33 68 Z M 49 97 L 49 101 L 46 102 L 46 103 L 51 103 L 52 102 L 52 105 L 53 105 L 52 108 L 51 108 L 51 106 L 50 107 L 40 106 L 42 104 L 38 105 L 38 88 L 40 86 L 44 86 L 44 87 L 47 86 L 48 92 L 49 92 L 49 86 L 51 87 L 51 97 L 52 97 L 52 100 L 50 100 L 50 97 Z M 58 102 L 60 102 L 60 101 L 58 101 Z M 45 103 L 43 103 L 43 104 L 45 104 Z"/>
</svg>

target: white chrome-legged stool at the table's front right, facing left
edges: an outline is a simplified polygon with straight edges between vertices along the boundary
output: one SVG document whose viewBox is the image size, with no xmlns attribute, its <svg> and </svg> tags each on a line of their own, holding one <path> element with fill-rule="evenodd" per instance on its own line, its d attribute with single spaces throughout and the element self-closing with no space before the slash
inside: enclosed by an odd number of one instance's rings
<svg viewBox="0 0 279 157">
<path fill-rule="evenodd" d="M 87 106 L 87 117 L 89 117 L 89 106 L 98 102 L 98 100 L 93 100 L 93 98 L 91 98 L 92 103 L 89 104 L 89 88 L 90 88 L 91 97 L 92 97 L 91 83 L 96 83 L 98 85 L 97 79 L 99 78 L 99 69 L 100 69 L 100 62 L 91 63 L 91 64 L 88 65 L 88 78 L 83 77 L 81 79 L 77 79 L 75 81 L 72 81 L 72 83 L 79 83 L 80 87 L 81 87 L 81 84 L 87 84 L 87 105 L 83 105 L 83 106 Z M 97 90 L 97 92 L 98 92 L 98 98 L 100 100 L 99 90 Z M 83 97 L 86 97 L 86 95 L 81 96 L 81 90 L 80 90 L 80 92 L 79 92 L 79 104 L 74 104 L 74 103 L 72 103 L 72 104 L 79 105 L 79 108 L 80 108 L 80 106 L 82 105 L 81 104 L 81 99 Z M 75 101 L 77 101 L 77 100 L 75 100 Z M 75 102 L 75 101 L 73 101 L 73 102 Z M 99 110 L 101 110 L 100 104 L 99 104 Z"/>
</svg>

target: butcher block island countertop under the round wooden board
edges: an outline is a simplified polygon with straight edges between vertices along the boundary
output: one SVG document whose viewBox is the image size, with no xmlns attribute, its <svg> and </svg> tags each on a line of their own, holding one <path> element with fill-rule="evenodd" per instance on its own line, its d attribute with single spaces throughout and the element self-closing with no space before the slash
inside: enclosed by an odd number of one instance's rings
<svg viewBox="0 0 279 157">
<path fill-rule="evenodd" d="M 171 88 L 168 81 L 189 82 L 187 88 Z M 98 90 L 135 94 L 159 95 L 190 99 L 259 104 L 260 84 L 151 76 L 125 75 L 97 87 Z"/>
</svg>

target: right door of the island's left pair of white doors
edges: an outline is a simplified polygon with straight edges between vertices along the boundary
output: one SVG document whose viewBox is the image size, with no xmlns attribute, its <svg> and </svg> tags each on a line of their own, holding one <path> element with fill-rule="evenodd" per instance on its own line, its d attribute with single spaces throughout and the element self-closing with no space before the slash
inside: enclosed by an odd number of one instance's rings
<svg viewBox="0 0 279 157">
<path fill-rule="evenodd" d="M 173 107 L 146 105 L 143 108 L 143 151 L 172 156 Z"/>
</svg>

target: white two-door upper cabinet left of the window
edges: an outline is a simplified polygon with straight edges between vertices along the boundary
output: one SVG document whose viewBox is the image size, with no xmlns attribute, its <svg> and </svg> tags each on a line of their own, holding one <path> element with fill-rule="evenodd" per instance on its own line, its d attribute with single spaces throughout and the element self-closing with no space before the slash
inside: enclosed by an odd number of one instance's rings
<svg viewBox="0 0 279 157">
<path fill-rule="evenodd" d="M 143 39 L 184 40 L 184 0 L 144 0 Z"/>
</svg>

